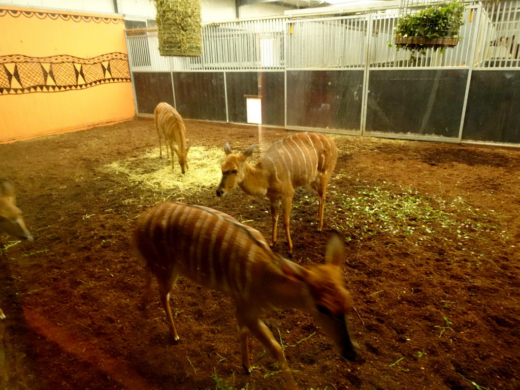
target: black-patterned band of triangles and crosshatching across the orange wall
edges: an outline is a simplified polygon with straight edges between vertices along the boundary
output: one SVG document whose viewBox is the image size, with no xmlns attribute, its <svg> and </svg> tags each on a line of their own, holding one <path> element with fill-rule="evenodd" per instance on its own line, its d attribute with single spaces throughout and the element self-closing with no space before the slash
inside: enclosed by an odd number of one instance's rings
<svg viewBox="0 0 520 390">
<path fill-rule="evenodd" d="M 62 92 L 130 81 L 128 56 L 124 53 L 93 58 L 0 56 L 0 95 Z"/>
</svg>

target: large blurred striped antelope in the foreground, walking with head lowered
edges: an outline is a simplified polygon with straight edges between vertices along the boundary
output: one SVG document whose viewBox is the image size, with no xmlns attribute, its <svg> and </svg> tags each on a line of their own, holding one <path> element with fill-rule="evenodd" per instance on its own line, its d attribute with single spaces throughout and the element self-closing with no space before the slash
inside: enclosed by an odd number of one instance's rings
<svg viewBox="0 0 520 390">
<path fill-rule="evenodd" d="M 162 306 L 174 341 L 179 340 L 170 309 L 170 291 L 179 276 L 233 298 L 240 335 L 242 366 L 251 373 L 251 332 L 278 360 L 287 362 L 275 337 L 259 318 L 273 308 L 305 309 L 341 355 L 354 360 L 358 345 L 350 337 L 346 314 L 352 298 L 342 274 L 343 243 L 333 235 L 326 264 L 304 268 L 273 252 L 261 233 L 208 207 L 165 202 L 141 214 L 134 230 L 134 255 L 145 263 L 143 306 L 159 285 Z"/>
</svg>

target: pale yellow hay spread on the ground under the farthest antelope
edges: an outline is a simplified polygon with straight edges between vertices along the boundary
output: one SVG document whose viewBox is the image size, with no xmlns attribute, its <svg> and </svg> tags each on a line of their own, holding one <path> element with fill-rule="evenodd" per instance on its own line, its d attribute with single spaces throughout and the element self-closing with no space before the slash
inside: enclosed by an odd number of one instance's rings
<svg viewBox="0 0 520 390">
<path fill-rule="evenodd" d="M 175 170 L 172 171 L 171 162 L 160 159 L 159 148 L 155 148 L 139 157 L 114 161 L 105 167 L 110 172 L 125 174 L 131 183 L 171 192 L 171 196 L 178 197 L 179 194 L 203 192 L 218 186 L 222 177 L 220 164 L 223 158 L 221 148 L 191 146 L 188 153 L 189 170 L 183 175 L 176 154 Z"/>
</svg>

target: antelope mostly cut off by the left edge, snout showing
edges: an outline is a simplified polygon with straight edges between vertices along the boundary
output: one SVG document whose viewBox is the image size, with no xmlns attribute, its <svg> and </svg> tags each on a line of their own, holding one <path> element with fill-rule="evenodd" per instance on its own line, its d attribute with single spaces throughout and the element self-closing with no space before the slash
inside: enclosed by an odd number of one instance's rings
<svg viewBox="0 0 520 390">
<path fill-rule="evenodd" d="M 23 222 L 22 212 L 15 204 L 15 189 L 6 179 L 0 179 L 0 234 L 2 233 L 19 240 L 33 240 Z M 0 309 L 0 319 L 4 318 L 4 312 Z"/>
</svg>

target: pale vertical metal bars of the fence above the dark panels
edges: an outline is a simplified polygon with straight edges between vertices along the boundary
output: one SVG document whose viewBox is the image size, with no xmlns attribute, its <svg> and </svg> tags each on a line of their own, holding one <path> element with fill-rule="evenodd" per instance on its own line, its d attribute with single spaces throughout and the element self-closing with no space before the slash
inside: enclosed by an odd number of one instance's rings
<svg viewBox="0 0 520 390">
<path fill-rule="evenodd" d="M 420 59 L 392 44 L 397 10 L 372 14 L 205 24 L 200 57 L 162 57 L 157 30 L 127 30 L 132 71 L 520 67 L 520 2 L 478 2 L 464 12 L 462 41 Z"/>
</svg>

